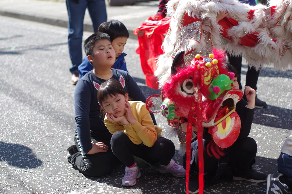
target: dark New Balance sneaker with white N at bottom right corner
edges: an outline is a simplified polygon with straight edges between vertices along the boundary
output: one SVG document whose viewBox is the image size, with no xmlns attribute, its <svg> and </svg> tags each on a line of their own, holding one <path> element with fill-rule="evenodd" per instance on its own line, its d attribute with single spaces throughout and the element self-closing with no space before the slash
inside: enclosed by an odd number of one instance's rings
<svg viewBox="0 0 292 194">
<path fill-rule="evenodd" d="M 270 174 L 267 178 L 267 194 L 288 194 L 288 186 L 279 181 L 283 174 Z"/>
</svg>

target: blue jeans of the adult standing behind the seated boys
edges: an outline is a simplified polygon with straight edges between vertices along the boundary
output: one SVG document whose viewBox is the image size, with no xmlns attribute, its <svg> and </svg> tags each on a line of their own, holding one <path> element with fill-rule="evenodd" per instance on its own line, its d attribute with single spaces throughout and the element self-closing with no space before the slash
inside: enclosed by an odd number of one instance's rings
<svg viewBox="0 0 292 194">
<path fill-rule="evenodd" d="M 69 16 L 68 46 L 72 62 L 71 73 L 78 73 L 78 66 L 82 63 L 82 35 L 85 10 L 88 8 L 93 24 L 93 31 L 97 32 L 99 24 L 107 21 L 107 11 L 104 0 L 66 0 Z"/>
</svg>

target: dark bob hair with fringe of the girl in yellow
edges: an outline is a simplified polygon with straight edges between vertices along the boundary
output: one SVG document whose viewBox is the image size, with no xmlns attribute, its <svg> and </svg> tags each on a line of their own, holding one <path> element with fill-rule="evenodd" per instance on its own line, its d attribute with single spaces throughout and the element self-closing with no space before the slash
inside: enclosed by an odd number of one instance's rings
<svg viewBox="0 0 292 194">
<path fill-rule="evenodd" d="M 108 79 L 102 82 L 98 88 L 97 100 L 100 106 L 102 106 L 102 103 L 105 102 L 108 97 L 115 97 L 119 94 L 126 96 L 126 93 L 127 92 L 119 81 L 116 79 Z"/>
</svg>

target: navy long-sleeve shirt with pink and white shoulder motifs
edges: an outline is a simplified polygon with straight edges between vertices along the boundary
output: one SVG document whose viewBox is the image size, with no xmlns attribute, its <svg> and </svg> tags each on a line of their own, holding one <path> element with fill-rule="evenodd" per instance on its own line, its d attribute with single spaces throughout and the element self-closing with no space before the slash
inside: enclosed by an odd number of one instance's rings
<svg viewBox="0 0 292 194">
<path fill-rule="evenodd" d="M 133 100 L 146 102 L 144 94 L 128 72 L 113 68 L 111 70 L 113 72 L 112 78 L 117 79 L 124 86 L 125 91 Z M 78 81 L 75 88 L 76 130 L 84 153 L 88 153 L 92 148 L 91 137 L 105 140 L 110 140 L 112 137 L 100 116 L 100 106 L 97 100 L 98 88 L 104 81 L 104 79 L 95 76 L 91 70 Z M 151 116 L 156 124 L 154 115 L 151 114 Z"/>
</svg>

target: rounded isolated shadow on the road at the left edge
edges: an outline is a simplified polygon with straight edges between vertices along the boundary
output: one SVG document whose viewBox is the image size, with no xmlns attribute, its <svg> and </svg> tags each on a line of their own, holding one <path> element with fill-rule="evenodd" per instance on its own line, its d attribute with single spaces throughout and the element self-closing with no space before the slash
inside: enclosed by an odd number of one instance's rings
<svg viewBox="0 0 292 194">
<path fill-rule="evenodd" d="M 36 168 L 42 164 L 42 161 L 36 158 L 32 150 L 24 145 L 0 141 L 0 147 L 0 161 L 6 161 L 11 166 Z"/>
</svg>

